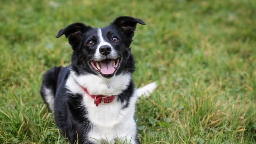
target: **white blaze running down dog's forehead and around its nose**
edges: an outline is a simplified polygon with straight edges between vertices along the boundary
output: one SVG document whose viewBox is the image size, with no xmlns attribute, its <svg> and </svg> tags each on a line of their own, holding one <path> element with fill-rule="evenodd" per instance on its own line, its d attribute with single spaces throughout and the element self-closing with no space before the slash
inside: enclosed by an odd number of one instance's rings
<svg viewBox="0 0 256 144">
<path fill-rule="evenodd" d="M 99 44 L 98 44 L 97 50 L 96 50 L 96 52 L 95 52 L 95 58 L 96 58 L 96 59 L 101 59 L 101 54 L 99 53 L 99 48 L 100 48 L 101 46 L 103 46 L 103 45 L 108 45 L 108 46 L 110 46 L 111 49 L 112 49 L 111 53 L 115 54 L 116 52 L 114 51 L 113 46 L 112 46 L 110 43 L 104 41 L 103 35 L 102 35 L 102 31 L 101 31 L 101 29 L 99 29 L 99 28 L 98 28 L 98 30 L 97 30 L 97 35 L 98 35 L 98 43 L 99 43 Z M 111 53 L 110 53 L 110 54 L 111 54 Z"/>
</svg>

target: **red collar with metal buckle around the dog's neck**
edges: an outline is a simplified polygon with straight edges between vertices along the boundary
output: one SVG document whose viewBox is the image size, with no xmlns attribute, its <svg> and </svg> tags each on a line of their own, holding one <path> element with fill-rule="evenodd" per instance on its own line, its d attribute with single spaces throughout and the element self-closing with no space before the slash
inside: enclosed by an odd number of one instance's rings
<svg viewBox="0 0 256 144">
<path fill-rule="evenodd" d="M 85 87 L 82 87 L 83 90 L 86 92 L 86 94 L 90 95 L 89 92 L 87 91 L 87 89 Z M 94 103 L 96 106 L 99 106 L 99 104 L 106 104 L 106 103 L 110 103 L 114 100 L 114 96 L 115 95 L 111 95 L 111 96 L 105 96 L 105 95 L 90 95 L 91 98 L 94 99 Z"/>
</svg>

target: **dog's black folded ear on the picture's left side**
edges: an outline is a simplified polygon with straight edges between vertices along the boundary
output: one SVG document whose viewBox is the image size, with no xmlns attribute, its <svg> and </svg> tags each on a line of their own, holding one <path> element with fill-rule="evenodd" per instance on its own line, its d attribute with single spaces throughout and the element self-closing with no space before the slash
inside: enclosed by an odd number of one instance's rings
<svg viewBox="0 0 256 144">
<path fill-rule="evenodd" d="M 61 29 L 56 38 L 59 38 L 61 35 L 65 34 L 66 38 L 68 38 L 68 43 L 74 48 L 81 42 L 82 33 L 89 29 L 91 29 L 91 27 L 86 26 L 83 23 L 73 23 L 64 29 Z"/>
</svg>

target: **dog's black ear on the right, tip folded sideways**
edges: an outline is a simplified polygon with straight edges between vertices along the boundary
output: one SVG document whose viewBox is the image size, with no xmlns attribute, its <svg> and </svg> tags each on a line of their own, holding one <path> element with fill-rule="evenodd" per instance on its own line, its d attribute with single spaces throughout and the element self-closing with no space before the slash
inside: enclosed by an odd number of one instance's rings
<svg viewBox="0 0 256 144">
<path fill-rule="evenodd" d="M 131 34 L 130 36 L 133 37 L 133 33 L 136 29 L 137 23 L 139 24 L 146 24 L 143 22 L 143 20 L 138 19 L 138 18 L 133 18 L 131 16 L 120 16 L 116 18 L 113 21 L 113 24 L 120 27 L 120 29 L 125 33 L 125 34 Z"/>
</svg>

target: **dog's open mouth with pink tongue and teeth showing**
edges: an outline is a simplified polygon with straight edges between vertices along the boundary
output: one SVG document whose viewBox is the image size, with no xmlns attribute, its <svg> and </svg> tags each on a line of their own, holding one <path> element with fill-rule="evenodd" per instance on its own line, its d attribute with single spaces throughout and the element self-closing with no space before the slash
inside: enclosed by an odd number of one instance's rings
<svg viewBox="0 0 256 144">
<path fill-rule="evenodd" d="M 117 59 L 105 59 L 102 61 L 91 61 L 91 65 L 96 71 L 101 72 L 103 75 L 112 75 L 119 64 L 119 58 Z"/>
</svg>

